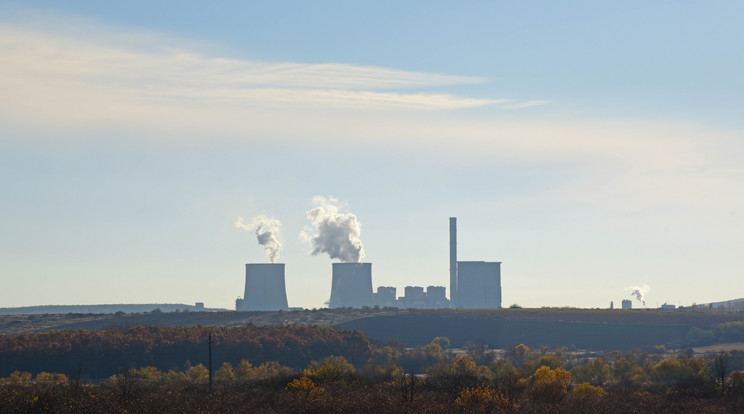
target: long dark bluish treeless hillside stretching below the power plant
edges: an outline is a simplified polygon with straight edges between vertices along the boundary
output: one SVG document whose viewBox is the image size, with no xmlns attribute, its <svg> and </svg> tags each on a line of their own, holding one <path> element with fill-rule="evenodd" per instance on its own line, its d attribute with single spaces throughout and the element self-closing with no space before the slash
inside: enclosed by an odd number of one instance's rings
<svg viewBox="0 0 744 414">
<path fill-rule="evenodd" d="M 447 336 L 454 345 L 483 340 L 491 347 L 519 343 L 588 349 L 658 345 L 703 346 L 744 342 L 744 313 L 717 310 L 609 309 L 317 309 L 287 312 L 148 312 L 0 316 L 0 334 L 49 330 L 121 330 L 138 326 L 187 327 L 319 325 L 359 329 L 370 338 L 397 338 L 406 346 Z"/>
</svg>

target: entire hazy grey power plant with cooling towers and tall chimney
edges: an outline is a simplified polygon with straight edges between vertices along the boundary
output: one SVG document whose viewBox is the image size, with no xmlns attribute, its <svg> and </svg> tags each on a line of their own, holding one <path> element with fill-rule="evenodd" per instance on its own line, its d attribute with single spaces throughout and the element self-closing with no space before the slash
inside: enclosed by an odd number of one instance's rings
<svg viewBox="0 0 744 414">
<path fill-rule="evenodd" d="M 444 286 L 406 286 L 397 297 L 392 286 L 372 290 L 372 263 L 333 263 L 330 308 L 397 307 L 417 309 L 500 308 L 501 262 L 457 260 L 457 218 L 450 217 L 450 298 Z M 238 311 L 287 310 L 284 264 L 245 265 L 245 292 Z"/>
</svg>

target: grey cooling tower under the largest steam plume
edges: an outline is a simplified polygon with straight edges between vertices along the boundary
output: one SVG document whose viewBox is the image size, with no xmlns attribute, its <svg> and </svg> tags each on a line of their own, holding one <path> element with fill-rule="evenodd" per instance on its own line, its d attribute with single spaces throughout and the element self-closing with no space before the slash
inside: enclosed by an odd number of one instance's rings
<svg viewBox="0 0 744 414">
<path fill-rule="evenodd" d="M 372 263 L 333 263 L 330 308 L 374 306 Z"/>
</svg>

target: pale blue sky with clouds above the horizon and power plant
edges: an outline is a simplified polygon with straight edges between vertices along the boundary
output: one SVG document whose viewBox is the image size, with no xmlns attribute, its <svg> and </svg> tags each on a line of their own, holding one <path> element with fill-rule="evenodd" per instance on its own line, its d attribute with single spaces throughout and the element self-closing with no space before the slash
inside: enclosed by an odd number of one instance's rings
<svg viewBox="0 0 744 414">
<path fill-rule="evenodd" d="M 290 306 L 502 262 L 503 303 L 744 297 L 740 1 L 0 1 L 0 307 L 234 308 L 281 223 Z M 640 303 L 636 303 L 640 306 Z"/>
</svg>

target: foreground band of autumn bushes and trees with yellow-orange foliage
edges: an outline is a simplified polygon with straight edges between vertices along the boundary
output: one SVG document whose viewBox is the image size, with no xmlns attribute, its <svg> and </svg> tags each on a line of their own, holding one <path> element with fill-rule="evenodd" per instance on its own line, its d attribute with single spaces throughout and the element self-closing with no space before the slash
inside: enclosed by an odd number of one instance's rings
<svg viewBox="0 0 744 414">
<path fill-rule="evenodd" d="M 131 368 L 99 384 L 50 372 L 34 376 L 15 371 L 0 379 L 0 411 L 744 411 L 744 352 L 739 351 L 613 351 L 596 356 L 525 345 L 497 353 L 483 343 L 453 350 L 447 338 L 412 349 L 395 341 L 366 344 L 362 362 L 350 359 L 360 356 L 355 353 L 327 355 L 302 367 L 280 361 L 223 361 L 215 366 L 211 392 L 209 370 L 202 363 L 182 369 Z"/>
</svg>

